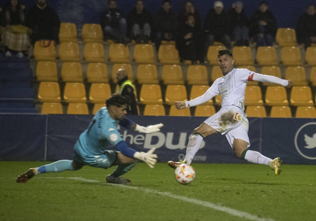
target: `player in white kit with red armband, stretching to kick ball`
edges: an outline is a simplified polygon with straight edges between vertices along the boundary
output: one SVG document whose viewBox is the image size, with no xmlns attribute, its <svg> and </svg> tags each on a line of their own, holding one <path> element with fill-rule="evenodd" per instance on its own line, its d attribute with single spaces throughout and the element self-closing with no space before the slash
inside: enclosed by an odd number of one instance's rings
<svg viewBox="0 0 316 221">
<path fill-rule="evenodd" d="M 180 162 L 169 161 L 168 165 L 176 168 L 182 163 L 191 164 L 203 138 L 221 133 L 225 134 L 237 157 L 252 163 L 270 166 L 275 175 L 279 175 L 282 162 L 280 158 L 270 159 L 257 151 L 247 149 L 250 143 L 249 123 L 244 112 L 245 89 L 248 81 L 277 83 L 283 87 L 292 87 L 293 81 L 261 75 L 248 69 L 234 68 L 233 55 L 228 49 L 218 51 L 218 63 L 224 76 L 216 79 L 202 96 L 186 102 L 177 101 L 175 106 L 179 110 L 197 106 L 209 101 L 217 94 L 221 94 L 222 108 L 194 129 L 187 145 L 185 159 Z"/>
</svg>

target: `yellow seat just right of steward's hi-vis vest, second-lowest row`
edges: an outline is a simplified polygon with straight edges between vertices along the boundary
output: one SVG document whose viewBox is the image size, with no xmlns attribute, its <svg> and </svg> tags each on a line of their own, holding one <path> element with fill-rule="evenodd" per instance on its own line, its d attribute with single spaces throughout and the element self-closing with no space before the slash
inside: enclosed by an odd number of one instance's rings
<svg viewBox="0 0 316 221">
<path fill-rule="evenodd" d="M 143 84 L 140 90 L 140 103 L 143 105 L 162 105 L 160 86 Z"/>
</svg>

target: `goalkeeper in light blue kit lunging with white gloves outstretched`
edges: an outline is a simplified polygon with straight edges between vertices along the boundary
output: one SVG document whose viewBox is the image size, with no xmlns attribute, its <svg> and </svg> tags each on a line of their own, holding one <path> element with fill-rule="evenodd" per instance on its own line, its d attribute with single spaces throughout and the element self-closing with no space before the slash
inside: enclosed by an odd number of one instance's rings
<svg viewBox="0 0 316 221">
<path fill-rule="evenodd" d="M 155 148 L 148 152 L 137 152 L 127 146 L 119 135 L 117 126 L 141 133 L 160 131 L 163 124 L 142 127 L 125 118 L 128 101 L 119 94 L 113 94 L 106 100 L 106 107 L 101 108 L 93 117 L 88 128 L 79 136 L 75 146 L 73 160 L 59 160 L 38 168 L 32 168 L 18 176 L 16 182 L 24 183 L 40 173 L 79 170 L 84 165 L 107 169 L 117 166 L 116 170 L 106 177 L 110 183 L 127 184 L 130 180 L 121 175 L 130 171 L 137 159 L 146 162 L 153 168 L 157 160 L 153 154 Z M 118 151 L 105 150 L 114 147 Z"/>
</svg>

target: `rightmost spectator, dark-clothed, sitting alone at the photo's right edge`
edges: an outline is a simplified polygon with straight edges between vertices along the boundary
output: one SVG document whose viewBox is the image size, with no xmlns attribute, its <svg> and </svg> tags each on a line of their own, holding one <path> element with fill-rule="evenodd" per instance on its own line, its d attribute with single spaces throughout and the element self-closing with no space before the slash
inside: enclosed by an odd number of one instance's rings
<svg viewBox="0 0 316 221">
<path fill-rule="evenodd" d="M 305 49 L 316 43 L 316 10 L 314 5 L 308 5 L 306 12 L 301 15 L 296 25 L 297 41 L 304 43 Z"/>
</svg>

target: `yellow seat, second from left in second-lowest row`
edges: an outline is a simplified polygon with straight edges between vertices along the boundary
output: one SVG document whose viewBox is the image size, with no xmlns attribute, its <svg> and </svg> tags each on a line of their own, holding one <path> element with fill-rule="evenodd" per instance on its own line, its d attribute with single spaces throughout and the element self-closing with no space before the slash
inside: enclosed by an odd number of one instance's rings
<svg viewBox="0 0 316 221">
<path fill-rule="evenodd" d="M 64 101 L 67 103 L 86 103 L 86 89 L 83 83 L 66 83 Z"/>
</svg>

